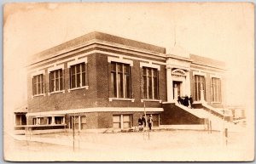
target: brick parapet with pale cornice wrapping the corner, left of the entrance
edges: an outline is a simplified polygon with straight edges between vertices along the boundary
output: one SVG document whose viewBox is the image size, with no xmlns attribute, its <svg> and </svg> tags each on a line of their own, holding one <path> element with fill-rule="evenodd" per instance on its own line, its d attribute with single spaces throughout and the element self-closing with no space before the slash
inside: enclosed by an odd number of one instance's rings
<svg viewBox="0 0 256 164">
<path fill-rule="evenodd" d="M 32 63 L 34 64 L 41 60 L 49 59 L 56 55 L 65 54 L 69 51 L 73 51 L 78 48 L 83 48 L 93 43 L 101 43 L 104 45 L 108 45 L 110 47 L 124 48 L 128 50 L 137 51 L 140 53 L 152 54 L 161 57 L 166 56 L 166 48 L 95 31 L 90 32 L 84 36 L 77 37 L 73 40 L 63 42 L 60 45 L 46 49 L 41 53 L 33 55 L 33 57 L 38 57 L 39 59 L 37 61 L 33 61 Z"/>
</svg>

